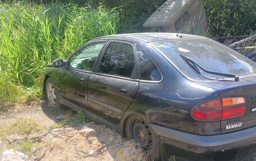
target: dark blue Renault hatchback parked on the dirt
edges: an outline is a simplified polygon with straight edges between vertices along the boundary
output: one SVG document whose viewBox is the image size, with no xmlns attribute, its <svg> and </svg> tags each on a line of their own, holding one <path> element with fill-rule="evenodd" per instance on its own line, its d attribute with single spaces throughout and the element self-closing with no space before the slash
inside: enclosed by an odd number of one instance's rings
<svg viewBox="0 0 256 161">
<path fill-rule="evenodd" d="M 134 139 L 152 158 L 256 155 L 256 63 L 211 39 L 136 33 L 90 40 L 45 69 L 49 105 Z M 164 160 L 164 159 L 163 159 Z"/>
</svg>

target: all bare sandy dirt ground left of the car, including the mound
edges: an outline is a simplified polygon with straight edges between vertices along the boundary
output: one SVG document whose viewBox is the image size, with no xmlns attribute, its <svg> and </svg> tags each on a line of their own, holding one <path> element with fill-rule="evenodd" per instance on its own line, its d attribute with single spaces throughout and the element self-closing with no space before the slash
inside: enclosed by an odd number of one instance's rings
<svg viewBox="0 0 256 161">
<path fill-rule="evenodd" d="M 43 127 L 43 130 L 28 136 L 37 139 L 29 160 L 148 160 L 148 154 L 139 144 L 127 141 L 104 125 L 83 122 L 56 128 L 60 116 L 70 111 L 67 107 L 57 109 L 45 103 L 8 106 L 8 110 L 2 110 L 0 114 L 0 125 L 20 118 L 32 118 Z"/>
</svg>

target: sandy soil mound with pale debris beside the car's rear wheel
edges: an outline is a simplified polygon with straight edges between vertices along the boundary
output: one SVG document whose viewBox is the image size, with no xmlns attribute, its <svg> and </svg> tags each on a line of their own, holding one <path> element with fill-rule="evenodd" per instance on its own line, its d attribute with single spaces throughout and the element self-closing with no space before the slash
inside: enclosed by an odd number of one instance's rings
<svg viewBox="0 0 256 161">
<path fill-rule="evenodd" d="M 94 123 L 53 129 L 33 150 L 44 155 L 42 160 L 140 160 L 145 156 L 138 144 Z"/>
</svg>

